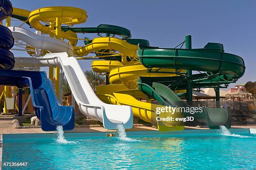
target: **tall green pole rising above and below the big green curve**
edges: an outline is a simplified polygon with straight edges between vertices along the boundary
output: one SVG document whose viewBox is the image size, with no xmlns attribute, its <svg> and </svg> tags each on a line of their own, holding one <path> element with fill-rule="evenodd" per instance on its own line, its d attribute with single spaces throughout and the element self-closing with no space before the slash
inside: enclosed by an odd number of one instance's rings
<svg viewBox="0 0 256 170">
<path fill-rule="evenodd" d="M 191 35 L 186 35 L 186 49 L 192 49 Z M 192 93 L 192 70 L 186 70 L 187 79 L 187 103 L 192 105 L 193 93 Z"/>
</svg>

